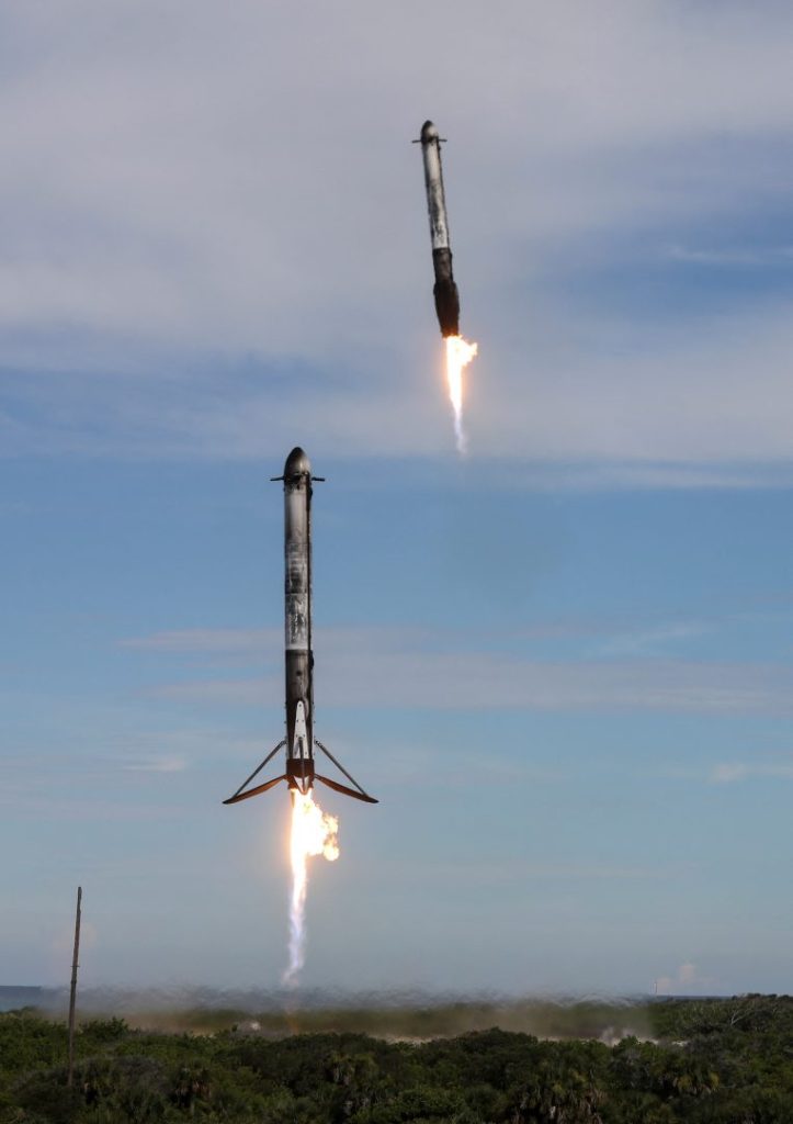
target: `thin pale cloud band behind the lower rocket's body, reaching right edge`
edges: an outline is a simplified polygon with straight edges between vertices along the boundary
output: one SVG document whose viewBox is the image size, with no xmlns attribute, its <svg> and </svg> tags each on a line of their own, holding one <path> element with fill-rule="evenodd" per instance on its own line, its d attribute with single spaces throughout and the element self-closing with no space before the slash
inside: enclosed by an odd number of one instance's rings
<svg viewBox="0 0 793 1124">
<path fill-rule="evenodd" d="M 202 651 L 211 647 L 203 631 L 177 635 L 188 650 L 193 636 Z M 218 643 L 221 638 L 241 642 L 241 636 L 222 631 Z M 421 629 L 334 628 L 323 632 L 317 674 L 325 706 L 359 706 L 365 700 L 368 707 L 431 709 L 793 713 L 793 668 L 660 659 L 646 647 L 634 661 L 623 655 L 559 662 L 477 650 L 459 634 L 447 650 L 441 635 Z M 276 706 L 282 689 L 281 674 L 272 673 L 186 679 L 152 688 L 152 694 L 190 704 Z"/>
</svg>

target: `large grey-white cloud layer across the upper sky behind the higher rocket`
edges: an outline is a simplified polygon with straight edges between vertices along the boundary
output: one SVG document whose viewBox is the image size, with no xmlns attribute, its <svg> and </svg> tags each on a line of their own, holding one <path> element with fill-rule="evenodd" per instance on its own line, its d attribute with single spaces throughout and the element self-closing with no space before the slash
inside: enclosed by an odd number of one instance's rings
<svg viewBox="0 0 793 1124">
<path fill-rule="evenodd" d="M 431 112 L 474 455 L 529 483 L 790 482 L 786 307 L 650 329 L 546 283 L 648 228 L 680 228 L 681 265 L 729 257 L 690 228 L 785 199 L 787 6 L 64 0 L 2 31 L 7 452 L 258 456 L 298 419 L 320 452 L 450 451 L 410 145 Z"/>
</svg>

